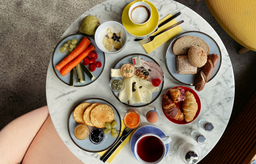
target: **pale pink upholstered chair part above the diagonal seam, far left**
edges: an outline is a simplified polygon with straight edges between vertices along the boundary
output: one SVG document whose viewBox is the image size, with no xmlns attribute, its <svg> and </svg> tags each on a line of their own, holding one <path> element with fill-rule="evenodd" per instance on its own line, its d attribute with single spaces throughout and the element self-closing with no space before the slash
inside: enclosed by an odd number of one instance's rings
<svg viewBox="0 0 256 164">
<path fill-rule="evenodd" d="M 0 131 L 0 163 L 21 163 L 29 145 L 48 116 L 48 107 L 44 106 L 6 125 Z"/>
</svg>

